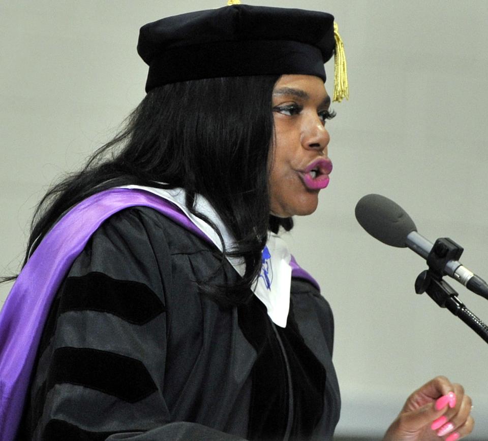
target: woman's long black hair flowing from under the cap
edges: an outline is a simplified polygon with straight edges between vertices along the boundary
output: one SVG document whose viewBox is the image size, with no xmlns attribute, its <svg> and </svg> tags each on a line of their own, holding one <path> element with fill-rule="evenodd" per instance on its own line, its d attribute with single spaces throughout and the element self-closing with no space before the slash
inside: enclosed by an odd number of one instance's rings
<svg viewBox="0 0 488 441">
<path fill-rule="evenodd" d="M 225 255 L 245 260 L 232 286 L 200 283 L 223 304 L 245 302 L 261 268 L 268 230 L 292 228 L 270 216 L 268 156 L 273 139 L 271 95 L 278 76 L 213 78 L 150 90 L 123 129 L 77 173 L 51 187 L 31 224 L 24 264 L 67 210 L 99 191 L 127 184 L 182 187 L 195 215 L 195 196 L 208 199 L 236 240 Z"/>
</svg>

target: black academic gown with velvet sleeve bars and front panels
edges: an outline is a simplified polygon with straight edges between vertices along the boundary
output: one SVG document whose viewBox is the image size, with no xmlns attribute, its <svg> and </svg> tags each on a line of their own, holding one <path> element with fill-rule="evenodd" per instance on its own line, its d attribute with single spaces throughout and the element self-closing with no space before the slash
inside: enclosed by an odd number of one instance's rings
<svg viewBox="0 0 488 441">
<path fill-rule="evenodd" d="M 222 308 L 195 282 L 239 277 L 219 254 L 149 208 L 105 221 L 52 304 L 18 439 L 331 439 L 327 301 L 293 279 L 286 328 L 256 296 Z"/>
</svg>

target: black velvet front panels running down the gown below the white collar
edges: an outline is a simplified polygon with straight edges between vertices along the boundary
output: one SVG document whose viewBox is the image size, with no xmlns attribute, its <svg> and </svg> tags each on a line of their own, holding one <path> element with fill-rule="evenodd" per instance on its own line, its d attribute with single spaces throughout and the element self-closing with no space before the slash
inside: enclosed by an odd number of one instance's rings
<svg viewBox="0 0 488 441">
<path fill-rule="evenodd" d="M 309 439 L 324 408 L 326 372 L 303 341 L 290 308 L 286 328 L 277 327 L 292 371 L 291 440 Z M 239 307 L 239 327 L 258 353 L 253 368 L 249 439 L 283 439 L 288 419 L 288 379 L 282 350 L 266 307 L 253 296 Z"/>
</svg>

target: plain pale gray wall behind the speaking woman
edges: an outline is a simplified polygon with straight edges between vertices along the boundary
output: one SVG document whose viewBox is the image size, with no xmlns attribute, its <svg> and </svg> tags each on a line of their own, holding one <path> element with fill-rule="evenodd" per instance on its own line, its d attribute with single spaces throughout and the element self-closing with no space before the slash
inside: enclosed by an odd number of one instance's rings
<svg viewBox="0 0 488 441">
<path fill-rule="evenodd" d="M 144 96 L 139 26 L 225 3 L 0 2 L 3 274 L 17 270 L 46 188 L 107 141 Z M 392 198 L 421 234 L 460 243 L 463 263 L 488 277 L 488 2 L 248 4 L 331 12 L 345 42 L 351 99 L 333 106 L 338 117 L 328 125 L 331 183 L 317 212 L 296 219 L 287 236 L 334 310 L 343 396 L 338 434 L 381 435 L 410 392 L 443 374 L 473 397 L 473 437 L 486 439 L 486 344 L 414 293 L 425 262 L 372 239 L 354 207 L 367 193 Z M 332 78 L 332 63 L 327 72 Z M 457 287 L 461 300 L 488 320 L 486 300 Z M 8 290 L 0 287 L 0 302 Z"/>
</svg>

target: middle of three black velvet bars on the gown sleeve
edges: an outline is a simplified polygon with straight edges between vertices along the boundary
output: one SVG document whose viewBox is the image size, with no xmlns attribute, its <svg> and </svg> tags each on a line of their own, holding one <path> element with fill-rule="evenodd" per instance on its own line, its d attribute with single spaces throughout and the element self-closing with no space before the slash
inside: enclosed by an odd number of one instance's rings
<svg viewBox="0 0 488 441">
<path fill-rule="evenodd" d="M 139 401 L 157 390 L 141 361 L 113 352 L 87 348 L 58 348 L 46 384 L 70 383 L 99 390 L 127 402 Z"/>
</svg>

